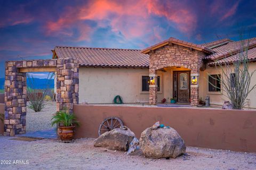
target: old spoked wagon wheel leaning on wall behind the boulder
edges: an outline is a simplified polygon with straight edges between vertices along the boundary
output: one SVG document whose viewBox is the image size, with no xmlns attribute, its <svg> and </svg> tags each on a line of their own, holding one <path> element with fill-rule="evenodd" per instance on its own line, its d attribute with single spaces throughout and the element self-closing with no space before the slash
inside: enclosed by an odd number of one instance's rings
<svg viewBox="0 0 256 170">
<path fill-rule="evenodd" d="M 107 131 L 111 131 L 121 126 L 123 126 L 123 122 L 118 117 L 105 118 L 99 126 L 98 134 L 100 136 Z"/>
</svg>

